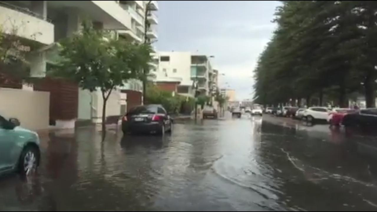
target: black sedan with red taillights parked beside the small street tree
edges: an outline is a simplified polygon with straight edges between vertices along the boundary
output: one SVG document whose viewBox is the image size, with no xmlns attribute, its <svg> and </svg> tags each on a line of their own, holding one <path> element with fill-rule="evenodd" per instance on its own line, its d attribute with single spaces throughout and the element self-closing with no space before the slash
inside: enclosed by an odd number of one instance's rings
<svg viewBox="0 0 377 212">
<path fill-rule="evenodd" d="M 153 133 L 163 135 L 171 132 L 173 120 L 160 104 L 147 104 L 132 108 L 122 118 L 122 131 L 129 133 Z"/>
</svg>

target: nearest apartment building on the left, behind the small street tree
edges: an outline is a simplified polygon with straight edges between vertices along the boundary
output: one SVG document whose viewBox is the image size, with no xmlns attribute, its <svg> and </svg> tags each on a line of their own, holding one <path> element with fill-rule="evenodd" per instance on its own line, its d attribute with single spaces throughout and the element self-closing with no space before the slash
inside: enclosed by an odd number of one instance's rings
<svg viewBox="0 0 377 212">
<path fill-rule="evenodd" d="M 80 31 L 83 20 L 92 21 L 95 28 L 113 30 L 116 37 L 129 36 L 143 41 L 140 38 L 140 31 L 144 26 L 142 14 L 149 2 L 0 1 L 0 25 L 3 32 L 16 34 L 21 38 L 23 45 L 30 47 L 26 57 L 30 76 L 43 78 L 56 61 L 56 42 Z M 158 9 L 157 2 L 151 1 L 149 8 L 147 18 L 153 27 L 148 31 L 147 39 L 152 40 L 157 37 L 155 25 L 158 21 L 152 12 Z M 132 36 L 131 32 L 136 37 Z M 26 85 L 16 86 L 17 91 L 12 87 L 2 89 L 1 99 L 7 104 L 0 104 L 0 114 L 20 118 L 23 126 L 32 129 L 47 128 L 49 122 L 51 124 L 52 116 L 55 116 L 55 124 L 63 128 L 74 127 L 77 119 L 93 122 L 101 120 L 102 99 L 99 91 L 90 93 L 78 89 L 77 85 L 65 84 L 64 88 L 57 88 L 58 86 L 59 83 L 48 82 L 34 85 L 34 88 Z M 138 80 L 130 80 L 123 88 L 116 88 L 110 95 L 107 115 L 122 114 L 126 110 L 125 94 L 128 94 L 128 91 L 141 90 L 141 82 Z M 23 95 L 26 97 L 18 98 Z M 56 98 L 57 95 L 60 98 Z M 141 97 L 141 94 L 138 96 Z M 30 109 L 25 109 L 22 105 L 28 105 Z M 68 111 L 68 108 L 71 110 Z"/>
</svg>

